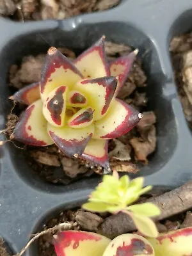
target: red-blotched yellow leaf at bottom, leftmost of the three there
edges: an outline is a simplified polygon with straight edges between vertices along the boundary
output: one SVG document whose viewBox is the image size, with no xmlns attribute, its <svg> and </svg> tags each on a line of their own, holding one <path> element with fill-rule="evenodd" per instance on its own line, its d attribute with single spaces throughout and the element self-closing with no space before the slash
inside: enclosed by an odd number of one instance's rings
<svg viewBox="0 0 192 256">
<path fill-rule="evenodd" d="M 102 256 L 111 242 L 107 237 L 85 231 L 62 231 L 54 235 L 58 256 Z"/>
</svg>

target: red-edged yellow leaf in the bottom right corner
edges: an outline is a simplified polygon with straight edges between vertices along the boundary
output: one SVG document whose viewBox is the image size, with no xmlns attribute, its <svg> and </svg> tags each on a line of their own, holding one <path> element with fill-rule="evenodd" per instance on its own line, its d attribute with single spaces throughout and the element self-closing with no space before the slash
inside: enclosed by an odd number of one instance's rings
<svg viewBox="0 0 192 256">
<path fill-rule="evenodd" d="M 157 238 L 148 238 L 156 256 L 192 255 L 192 227 L 162 233 Z"/>
</svg>

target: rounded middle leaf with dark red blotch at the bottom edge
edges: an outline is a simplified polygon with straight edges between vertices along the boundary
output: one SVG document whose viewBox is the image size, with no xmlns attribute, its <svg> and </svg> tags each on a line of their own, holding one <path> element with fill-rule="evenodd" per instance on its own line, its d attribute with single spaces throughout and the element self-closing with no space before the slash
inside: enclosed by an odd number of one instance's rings
<svg viewBox="0 0 192 256">
<path fill-rule="evenodd" d="M 123 234 L 108 244 L 102 256 L 155 256 L 154 248 L 142 236 Z"/>
</svg>

